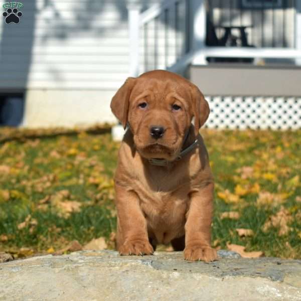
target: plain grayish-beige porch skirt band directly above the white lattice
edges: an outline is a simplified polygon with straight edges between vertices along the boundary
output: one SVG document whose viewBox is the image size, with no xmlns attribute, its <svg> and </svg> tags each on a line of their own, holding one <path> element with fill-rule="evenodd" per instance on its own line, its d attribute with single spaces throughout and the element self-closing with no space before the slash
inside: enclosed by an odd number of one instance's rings
<svg viewBox="0 0 301 301">
<path fill-rule="evenodd" d="M 209 64 L 192 66 L 190 80 L 206 95 L 301 96 L 301 68 Z"/>
</svg>

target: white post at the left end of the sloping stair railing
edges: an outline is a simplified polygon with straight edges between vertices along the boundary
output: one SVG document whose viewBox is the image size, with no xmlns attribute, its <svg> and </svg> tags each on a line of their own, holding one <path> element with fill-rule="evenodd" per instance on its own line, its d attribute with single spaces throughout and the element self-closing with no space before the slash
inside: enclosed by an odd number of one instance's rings
<svg viewBox="0 0 301 301">
<path fill-rule="evenodd" d="M 139 74 L 139 14 L 141 6 L 128 1 L 129 76 Z"/>
</svg>

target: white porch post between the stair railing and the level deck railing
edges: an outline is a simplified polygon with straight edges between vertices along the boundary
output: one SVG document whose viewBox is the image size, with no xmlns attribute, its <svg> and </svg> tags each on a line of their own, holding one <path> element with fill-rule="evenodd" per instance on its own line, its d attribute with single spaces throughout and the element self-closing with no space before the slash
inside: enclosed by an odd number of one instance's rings
<svg viewBox="0 0 301 301">
<path fill-rule="evenodd" d="M 191 0 L 193 17 L 192 50 L 197 52 L 204 49 L 206 44 L 206 0 Z M 206 65 L 205 55 L 198 55 L 193 63 Z"/>
</svg>

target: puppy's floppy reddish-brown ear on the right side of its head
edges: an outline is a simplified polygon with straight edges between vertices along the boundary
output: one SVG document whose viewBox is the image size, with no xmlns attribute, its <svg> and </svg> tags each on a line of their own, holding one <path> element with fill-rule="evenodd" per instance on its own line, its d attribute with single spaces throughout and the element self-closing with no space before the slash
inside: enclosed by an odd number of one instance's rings
<svg viewBox="0 0 301 301">
<path fill-rule="evenodd" d="M 191 86 L 192 107 L 194 114 L 195 134 L 199 133 L 200 127 L 206 122 L 209 116 L 209 104 L 204 98 L 203 93 L 195 85 Z"/>
</svg>

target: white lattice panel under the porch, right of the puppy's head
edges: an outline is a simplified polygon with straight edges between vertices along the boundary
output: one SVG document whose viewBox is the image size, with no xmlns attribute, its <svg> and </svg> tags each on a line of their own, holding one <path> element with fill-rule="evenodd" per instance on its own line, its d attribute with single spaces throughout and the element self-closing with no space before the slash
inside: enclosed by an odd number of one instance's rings
<svg viewBox="0 0 301 301">
<path fill-rule="evenodd" d="M 209 128 L 298 129 L 301 98 L 207 96 Z"/>
</svg>

